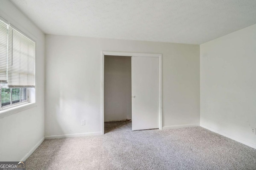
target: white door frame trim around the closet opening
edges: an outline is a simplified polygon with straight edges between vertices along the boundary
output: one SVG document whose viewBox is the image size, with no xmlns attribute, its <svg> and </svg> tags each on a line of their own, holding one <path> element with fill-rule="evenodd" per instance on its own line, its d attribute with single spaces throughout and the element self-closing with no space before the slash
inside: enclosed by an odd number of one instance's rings
<svg viewBox="0 0 256 170">
<path fill-rule="evenodd" d="M 159 58 L 159 129 L 162 130 L 162 54 L 130 53 L 130 52 L 101 52 L 101 134 L 104 135 L 104 60 L 105 55 L 124 57 L 158 57 Z"/>
</svg>

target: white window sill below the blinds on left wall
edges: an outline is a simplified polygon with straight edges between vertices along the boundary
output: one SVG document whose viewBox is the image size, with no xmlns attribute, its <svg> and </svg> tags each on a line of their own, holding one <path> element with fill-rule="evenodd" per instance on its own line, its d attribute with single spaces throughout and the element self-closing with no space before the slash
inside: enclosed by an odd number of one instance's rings
<svg viewBox="0 0 256 170">
<path fill-rule="evenodd" d="M 14 106 L 14 107 L 11 107 L 11 108 L 8 108 L 8 109 L 1 110 L 0 111 L 0 119 L 4 118 L 6 116 L 9 116 L 9 115 L 12 115 L 12 114 L 19 113 L 21 111 L 30 109 L 32 107 L 36 107 L 36 106 L 37 106 L 36 103 L 27 103 L 27 104 L 22 104 L 22 105 L 19 105 L 19 106 Z"/>
</svg>

